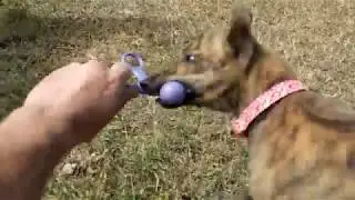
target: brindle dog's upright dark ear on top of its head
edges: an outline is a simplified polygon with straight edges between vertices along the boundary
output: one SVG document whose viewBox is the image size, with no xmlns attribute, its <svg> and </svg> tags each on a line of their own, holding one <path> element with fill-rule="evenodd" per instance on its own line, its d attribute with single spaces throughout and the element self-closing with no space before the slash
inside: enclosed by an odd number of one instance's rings
<svg viewBox="0 0 355 200">
<path fill-rule="evenodd" d="M 241 61 L 248 62 L 253 53 L 253 38 L 251 24 L 253 16 L 250 9 L 234 3 L 232 9 L 230 32 L 226 37 L 227 43 L 232 48 L 233 54 Z"/>
</svg>

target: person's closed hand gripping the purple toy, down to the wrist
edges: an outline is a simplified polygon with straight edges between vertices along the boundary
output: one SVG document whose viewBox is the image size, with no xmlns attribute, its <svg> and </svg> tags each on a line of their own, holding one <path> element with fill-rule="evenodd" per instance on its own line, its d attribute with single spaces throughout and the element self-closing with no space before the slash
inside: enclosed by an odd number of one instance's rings
<svg viewBox="0 0 355 200">
<path fill-rule="evenodd" d="M 70 63 L 40 81 L 23 107 L 40 110 L 49 127 L 60 127 L 65 142 L 75 146 L 90 141 L 121 108 L 138 97 L 126 86 L 131 71 L 125 63 L 95 60 Z"/>
</svg>

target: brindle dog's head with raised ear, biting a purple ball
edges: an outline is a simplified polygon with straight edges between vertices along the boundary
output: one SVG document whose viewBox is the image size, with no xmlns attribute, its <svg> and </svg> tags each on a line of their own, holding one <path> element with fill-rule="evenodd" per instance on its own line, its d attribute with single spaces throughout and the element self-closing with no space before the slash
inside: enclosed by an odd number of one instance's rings
<svg viewBox="0 0 355 200">
<path fill-rule="evenodd" d="M 201 34 L 184 49 L 173 72 L 153 74 L 142 87 L 150 94 L 158 94 L 164 82 L 178 80 L 191 91 L 184 104 L 221 111 L 239 108 L 241 88 L 256 46 L 251 23 L 250 10 L 236 7 L 230 26 Z"/>
</svg>

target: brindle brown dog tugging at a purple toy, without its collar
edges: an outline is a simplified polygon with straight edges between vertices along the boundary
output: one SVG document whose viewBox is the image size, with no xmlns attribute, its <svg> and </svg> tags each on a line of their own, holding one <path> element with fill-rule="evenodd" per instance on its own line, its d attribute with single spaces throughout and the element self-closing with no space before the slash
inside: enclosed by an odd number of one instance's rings
<svg viewBox="0 0 355 200">
<path fill-rule="evenodd" d="M 207 30 L 174 73 L 152 76 L 156 94 L 166 80 L 193 91 L 185 104 L 237 117 L 262 92 L 296 74 L 251 33 L 252 14 L 239 8 L 229 28 Z M 263 112 L 250 136 L 250 194 L 255 200 L 355 199 L 355 112 L 313 91 L 287 96 Z"/>
</svg>

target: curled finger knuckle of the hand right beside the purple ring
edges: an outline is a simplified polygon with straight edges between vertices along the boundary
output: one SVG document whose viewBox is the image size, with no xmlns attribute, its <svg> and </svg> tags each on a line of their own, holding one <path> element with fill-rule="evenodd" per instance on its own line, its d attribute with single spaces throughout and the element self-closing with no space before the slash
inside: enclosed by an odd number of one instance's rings
<svg viewBox="0 0 355 200">
<path fill-rule="evenodd" d="M 125 82 L 132 76 L 130 66 L 124 62 L 113 64 L 109 73 L 110 73 L 110 79 L 116 80 L 118 84 L 125 84 Z"/>
</svg>

